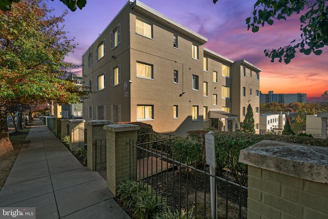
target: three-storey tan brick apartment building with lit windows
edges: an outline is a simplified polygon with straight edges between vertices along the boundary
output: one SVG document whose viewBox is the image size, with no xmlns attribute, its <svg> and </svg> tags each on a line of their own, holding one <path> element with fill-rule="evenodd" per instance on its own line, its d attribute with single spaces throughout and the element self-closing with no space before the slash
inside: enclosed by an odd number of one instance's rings
<svg viewBox="0 0 328 219">
<path fill-rule="evenodd" d="M 251 104 L 258 127 L 261 69 L 204 48 L 206 42 L 147 5 L 128 2 L 83 55 L 92 91 L 83 118 L 138 121 L 186 135 L 208 127 L 233 131 Z"/>
</svg>

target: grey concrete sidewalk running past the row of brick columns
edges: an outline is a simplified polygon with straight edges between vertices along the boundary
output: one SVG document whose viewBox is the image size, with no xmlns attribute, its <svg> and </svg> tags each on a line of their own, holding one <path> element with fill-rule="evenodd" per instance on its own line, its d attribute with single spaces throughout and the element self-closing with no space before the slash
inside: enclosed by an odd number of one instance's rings
<svg viewBox="0 0 328 219">
<path fill-rule="evenodd" d="M 5 185 L 1 207 L 36 207 L 36 218 L 131 218 L 106 181 L 81 165 L 43 124 L 34 123 Z"/>
</svg>

